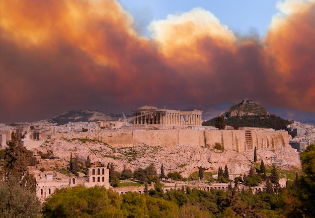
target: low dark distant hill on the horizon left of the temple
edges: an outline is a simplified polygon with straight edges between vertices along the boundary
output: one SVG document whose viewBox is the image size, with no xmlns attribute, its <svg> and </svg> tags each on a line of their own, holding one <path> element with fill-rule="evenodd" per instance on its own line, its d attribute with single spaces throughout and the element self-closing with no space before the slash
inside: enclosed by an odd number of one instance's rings
<svg viewBox="0 0 315 218">
<path fill-rule="evenodd" d="M 95 121 L 117 121 L 121 115 L 114 115 L 108 112 L 90 111 L 90 110 L 76 110 L 69 111 L 57 115 L 49 122 L 57 123 L 57 125 L 64 125 L 68 122 L 95 122 Z"/>
</svg>

